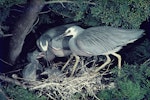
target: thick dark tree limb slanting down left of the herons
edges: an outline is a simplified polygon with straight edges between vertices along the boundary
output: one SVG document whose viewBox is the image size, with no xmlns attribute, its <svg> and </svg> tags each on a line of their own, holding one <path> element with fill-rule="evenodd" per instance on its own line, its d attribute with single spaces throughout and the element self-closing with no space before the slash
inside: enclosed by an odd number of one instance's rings
<svg viewBox="0 0 150 100">
<path fill-rule="evenodd" d="M 44 6 L 43 0 L 29 0 L 26 11 L 22 14 L 12 30 L 13 36 L 9 45 L 9 62 L 15 64 L 22 51 L 24 40 L 34 26 L 39 12 Z"/>
</svg>

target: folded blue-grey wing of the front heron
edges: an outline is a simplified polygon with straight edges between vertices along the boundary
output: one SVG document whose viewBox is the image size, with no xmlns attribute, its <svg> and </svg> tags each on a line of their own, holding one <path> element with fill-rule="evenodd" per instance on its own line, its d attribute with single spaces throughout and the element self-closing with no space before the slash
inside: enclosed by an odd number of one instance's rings
<svg viewBox="0 0 150 100">
<path fill-rule="evenodd" d="M 142 32 L 108 26 L 92 27 L 85 29 L 83 33 L 79 34 L 76 42 L 82 51 L 93 55 L 101 55 L 119 51 L 122 46 L 136 40 Z"/>
</svg>

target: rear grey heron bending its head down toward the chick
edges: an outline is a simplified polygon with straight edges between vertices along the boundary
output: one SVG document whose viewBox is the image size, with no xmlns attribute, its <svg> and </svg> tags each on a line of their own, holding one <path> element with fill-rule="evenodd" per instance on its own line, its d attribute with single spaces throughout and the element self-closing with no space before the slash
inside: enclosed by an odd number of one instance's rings
<svg viewBox="0 0 150 100">
<path fill-rule="evenodd" d="M 68 39 L 57 39 L 65 30 L 75 24 L 66 24 L 49 29 L 37 40 L 36 44 L 40 51 L 46 55 L 46 60 L 51 61 L 57 57 L 64 57 L 71 54 L 67 45 Z"/>
</svg>

